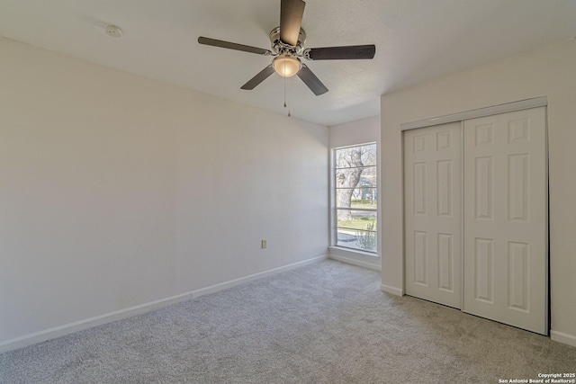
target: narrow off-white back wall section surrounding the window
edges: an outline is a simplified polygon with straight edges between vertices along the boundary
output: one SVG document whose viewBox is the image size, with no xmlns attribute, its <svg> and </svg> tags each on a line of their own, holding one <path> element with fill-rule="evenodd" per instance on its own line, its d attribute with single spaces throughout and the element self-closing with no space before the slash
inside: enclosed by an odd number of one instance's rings
<svg viewBox="0 0 576 384">
<path fill-rule="evenodd" d="M 378 151 L 378 166 L 380 166 L 380 116 L 373 116 L 367 119 L 350 121 L 343 124 L 333 125 L 329 127 L 329 147 L 330 149 L 346 146 L 354 146 L 356 144 L 365 144 L 376 142 L 376 147 Z M 332 185 L 330 188 L 334 188 L 334 180 L 331 180 Z M 381 180 L 378 180 L 378 187 L 380 191 Z M 334 199 L 332 199 L 332 205 L 334 204 Z M 331 212 L 332 213 L 332 212 Z M 331 220 L 332 227 L 332 237 L 335 236 L 334 228 L 335 223 L 334 218 Z M 378 230 L 381 230 L 380 220 L 378 221 Z M 330 240 L 331 243 L 334 239 Z M 380 259 L 381 253 L 381 242 L 378 242 L 378 252 L 374 255 L 368 255 L 362 252 L 348 251 L 342 247 L 330 247 L 329 255 L 330 258 L 339 260 L 346 263 L 354 263 L 356 265 L 361 265 L 366 268 L 371 268 L 380 271 L 382 261 Z"/>
</svg>

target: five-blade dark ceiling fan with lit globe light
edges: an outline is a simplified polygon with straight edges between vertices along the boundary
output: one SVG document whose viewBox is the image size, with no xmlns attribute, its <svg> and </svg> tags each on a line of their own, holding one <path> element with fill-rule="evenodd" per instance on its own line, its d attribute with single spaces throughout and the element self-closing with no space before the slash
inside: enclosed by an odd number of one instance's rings
<svg viewBox="0 0 576 384">
<path fill-rule="evenodd" d="M 241 89 L 251 90 L 262 83 L 268 76 L 277 73 L 283 77 L 297 75 L 317 96 L 328 92 L 311 69 L 302 63 L 301 58 L 308 60 L 341 60 L 374 58 L 374 44 L 350 45 L 345 47 L 326 47 L 304 49 L 306 32 L 302 30 L 302 15 L 306 3 L 302 0 L 281 0 L 280 26 L 270 32 L 273 50 L 250 47 L 234 42 L 199 37 L 198 42 L 204 45 L 226 49 L 242 50 L 258 55 L 274 57 L 272 64 L 264 68 L 257 76 L 252 77 Z"/>
</svg>

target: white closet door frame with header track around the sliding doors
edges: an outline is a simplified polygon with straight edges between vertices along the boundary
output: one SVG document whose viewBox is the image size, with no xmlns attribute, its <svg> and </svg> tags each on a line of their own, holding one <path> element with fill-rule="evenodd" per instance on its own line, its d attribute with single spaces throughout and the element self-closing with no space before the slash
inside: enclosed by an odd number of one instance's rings
<svg viewBox="0 0 576 384">
<path fill-rule="evenodd" d="M 405 122 L 405 123 L 401 123 L 401 131 L 404 130 L 410 130 L 410 129 L 419 129 L 419 128 L 427 128 L 427 127 L 433 127 L 433 126 L 437 126 L 440 124 L 446 124 L 449 122 L 456 122 L 456 121 L 460 121 L 461 123 L 461 129 L 464 130 L 464 121 L 466 120 L 472 120 L 472 119 L 476 119 L 476 118 L 480 118 L 480 117 L 485 117 L 485 116 L 491 116 L 491 115 L 497 115 L 500 113 L 506 113 L 506 112 L 514 112 L 514 111 L 522 111 L 522 110 L 527 110 L 527 109 L 532 109 L 532 108 L 536 108 L 536 107 L 547 107 L 548 105 L 548 98 L 546 96 L 541 96 L 541 97 L 536 97 L 536 98 L 532 98 L 532 99 L 526 99 L 526 100 L 521 100 L 518 102 L 513 102 L 513 103 L 503 103 L 503 104 L 499 104 L 499 105 L 494 105 L 491 107 L 486 107 L 486 108 L 480 108 L 480 109 L 476 109 L 476 110 L 471 110 L 471 111 L 466 111 L 466 112 L 457 112 L 457 113 L 452 113 L 452 114 L 448 114 L 448 115 L 444 115 L 444 116 L 439 116 L 439 117 L 435 117 L 435 118 L 430 118 L 430 119 L 425 119 L 425 120 L 420 120 L 420 121 L 410 121 L 410 122 Z M 546 113 L 546 112 L 545 112 Z M 547 114 L 545 116 L 545 180 L 546 180 L 546 184 L 549 181 L 549 166 L 548 166 L 548 129 L 547 129 Z M 404 150 L 404 135 L 402 133 L 401 135 L 402 140 L 402 151 Z M 461 131 L 461 140 L 464 141 L 464 131 Z M 464 151 L 464 142 L 461 142 L 462 148 L 461 150 Z M 402 207 L 405 207 L 406 205 L 406 201 L 404 201 L 404 156 L 402 154 Z M 464 156 L 463 156 L 464 159 Z M 462 173 L 464 173 L 464 166 L 462 167 Z M 464 174 L 462 174 L 463 180 L 464 180 Z M 464 190 L 464 183 L 462 185 L 462 189 Z M 463 204 L 462 210 L 461 210 L 461 214 L 462 214 L 462 218 L 461 218 L 461 225 L 464 227 L 464 191 L 462 191 L 463 196 L 461 199 L 461 203 Z M 546 302 L 545 302 L 545 308 L 547 310 L 547 314 L 546 314 L 546 334 L 548 335 L 550 333 L 550 267 L 549 267 L 549 263 L 550 263 L 550 211 L 548 209 L 549 206 L 549 191 L 548 188 L 546 188 L 546 192 L 545 192 L 545 199 L 546 199 L 546 237 L 545 237 L 545 243 L 548 249 L 547 255 L 546 255 L 546 265 L 545 265 L 545 271 L 546 271 L 546 276 L 545 276 L 545 287 L 546 287 L 546 293 L 545 293 L 545 297 L 546 297 Z M 403 211 L 405 210 L 405 208 L 402 209 Z M 402 238 L 405 238 L 406 234 L 405 234 L 405 228 L 404 228 L 404 219 L 402 219 Z M 464 232 L 463 232 L 464 234 Z M 462 242 L 461 244 L 461 255 L 464 255 L 464 242 Z M 402 259 L 403 259 L 403 263 L 406 263 L 406 246 L 403 245 L 402 246 Z M 463 290 L 463 292 L 461 292 L 461 308 L 464 308 L 464 263 L 461 263 L 460 265 L 461 271 L 460 271 L 460 275 L 461 275 L 461 289 Z M 406 268 L 403 267 L 403 276 L 402 276 L 402 281 L 403 281 L 403 291 L 406 292 Z"/>
</svg>

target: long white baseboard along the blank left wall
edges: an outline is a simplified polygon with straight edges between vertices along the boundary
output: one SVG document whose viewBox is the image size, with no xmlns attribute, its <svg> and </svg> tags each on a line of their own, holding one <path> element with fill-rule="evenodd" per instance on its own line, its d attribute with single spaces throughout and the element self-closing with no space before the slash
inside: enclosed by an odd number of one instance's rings
<svg viewBox="0 0 576 384">
<path fill-rule="evenodd" d="M 191 292 L 185 292 L 179 295 L 175 295 L 166 299 L 159 299 L 156 301 L 151 301 L 145 304 L 140 304 L 138 306 L 124 308 L 114 312 L 106 313 L 96 317 L 86 318 L 84 320 L 76 321 L 74 323 L 69 323 L 64 326 L 55 326 L 40 332 L 35 332 L 30 335 L 23 335 L 16 337 L 11 340 L 7 340 L 0 343 L 0 353 L 12 351 L 14 349 L 23 348 L 31 344 L 38 344 L 45 342 L 47 340 L 55 339 L 57 337 L 74 334 L 78 331 L 83 331 L 94 326 L 102 326 L 106 323 L 111 323 L 112 321 L 121 320 L 124 318 L 140 315 L 142 313 L 150 312 L 155 309 L 164 308 L 172 304 L 176 304 L 189 299 L 198 298 L 200 296 L 217 292 L 219 290 L 226 290 L 228 288 L 243 284 L 248 281 L 255 281 L 257 279 L 262 279 L 267 276 L 272 276 L 276 273 L 290 271 L 294 268 L 302 267 L 307 264 L 317 263 L 321 260 L 328 258 L 328 255 L 322 255 L 319 257 L 313 257 L 308 260 L 304 260 L 298 263 L 292 263 L 284 265 L 283 267 L 275 268 L 265 272 L 254 273 L 239 279 L 234 279 L 231 281 L 225 281 L 220 284 L 211 285 L 210 287 L 202 288 L 200 290 L 193 290 Z"/>
</svg>

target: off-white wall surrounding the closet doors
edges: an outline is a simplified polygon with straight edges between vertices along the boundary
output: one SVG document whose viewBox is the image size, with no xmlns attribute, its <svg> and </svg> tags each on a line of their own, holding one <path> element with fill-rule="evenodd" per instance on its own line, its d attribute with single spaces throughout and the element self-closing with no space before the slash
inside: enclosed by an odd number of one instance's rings
<svg viewBox="0 0 576 384">
<path fill-rule="evenodd" d="M 401 123 L 548 97 L 551 327 L 576 345 L 576 40 L 382 96 L 383 290 L 403 291 Z"/>
</svg>

